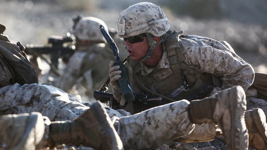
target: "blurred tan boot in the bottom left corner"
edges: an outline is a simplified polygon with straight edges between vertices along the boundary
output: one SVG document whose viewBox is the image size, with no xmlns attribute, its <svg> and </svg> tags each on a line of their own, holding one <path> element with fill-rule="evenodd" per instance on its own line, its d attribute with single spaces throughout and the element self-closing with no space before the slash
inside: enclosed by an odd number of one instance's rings
<svg viewBox="0 0 267 150">
<path fill-rule="evenodd" d="M 39 112 L 0 117 L 0 149 L 35 150 L 44 136 L 44 120 Z"/>
</svg>

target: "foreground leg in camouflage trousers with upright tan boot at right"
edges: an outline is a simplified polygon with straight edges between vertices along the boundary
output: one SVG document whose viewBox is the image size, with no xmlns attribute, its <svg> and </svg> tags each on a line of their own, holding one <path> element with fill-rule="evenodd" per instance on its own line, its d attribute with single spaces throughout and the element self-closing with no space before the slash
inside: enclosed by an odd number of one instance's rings
<svg viewBox="0 0 267 150">
<path fill-rule="evenodd" d="M 244 90 L 237 86 L 202 100 L 181 100 L 121 117 L 114 126 L 125 149 L 156 148 L 189 134 L 194 124 L 205 123 L 221 126 L 228 149 L 247 149 L 245 104 Z"/>
</svg>

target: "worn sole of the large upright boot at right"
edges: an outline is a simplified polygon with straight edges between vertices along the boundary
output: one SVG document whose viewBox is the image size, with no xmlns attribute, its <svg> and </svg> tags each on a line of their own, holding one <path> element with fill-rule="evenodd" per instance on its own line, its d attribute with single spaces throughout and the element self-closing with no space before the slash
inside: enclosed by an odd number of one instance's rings
<svg viewBox="0 0 267 150">
<path fill-rule="evenodd" d="M 241 88 L 241 86 L 239 86 Z M 231 93 L 238 93 L 237 88 L 235 90 L 231 90 Z M 230 94 L 233 95 L 233 94 Z M 240 96 L 238 94 L 237 96 Z M 229 150 L 239 150 L 239 149 L 248 149 L 248 129 L 245 124 L 245 110 L 246 110 L 246 101 L 241 101 L 241 98 L 235 98 L 234 100 L 230 100 L 230 111 L 232 117 L 231 124 L 231 135 L 230 139 L 226 139 L 227 141 L 227 149 Z M 240 143 L 240 141 L 245 141 L 245 143 Z M 232 143 L 229 145 L 229 143 Z"/>
</svg>

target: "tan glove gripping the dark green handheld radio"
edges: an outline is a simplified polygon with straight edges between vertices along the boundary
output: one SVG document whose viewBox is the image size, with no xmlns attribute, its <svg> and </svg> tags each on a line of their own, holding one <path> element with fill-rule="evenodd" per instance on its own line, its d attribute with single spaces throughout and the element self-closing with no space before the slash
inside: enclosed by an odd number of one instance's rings
<svg viewBox="0 0 267 150">
<path fill-rule="evenodd" d="M 122 92 L 121 92 L 121 88 L 120 88 L 120 84 L 119 84 L 119 78 L 121 77 L 121 71 L 119 70 L 120 69 L 120 66 L 114 66 L 114 61 L 111 61 L 109 63 L 109 78 L 110 78 L 110 85 L 111 87 L 113 88 L 113 97 L 115 98 L 115 100 L 117 100 L 120 105 L 124 105 L 126 100 L 124 98 L 124 96 L 122 95 Z M 128 65 L 126 67 L 127 69 L 127 73 L 128 73 L 128 76 L 129 78 L 131 79 L 132 78 L 132 68 L 130 65 Z"/>
</svg>

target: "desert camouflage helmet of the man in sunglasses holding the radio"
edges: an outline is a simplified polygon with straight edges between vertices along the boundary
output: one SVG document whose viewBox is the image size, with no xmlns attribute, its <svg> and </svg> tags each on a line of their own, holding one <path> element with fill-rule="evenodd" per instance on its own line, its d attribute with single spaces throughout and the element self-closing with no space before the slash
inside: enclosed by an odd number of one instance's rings
<svg viewBox="0 0 267 150">
<path fill-rule="evenodd" d="M 125 22 L 125 27 L 123 26 Z M 161 36 L 170 29 L 168 18 L 163 10 L 149 2 L 142 2 L 125 9 L 118 19 L 118 35 L 120 37 L 135 36 L 142 33 L 151 33 Z"/>
</svg>

